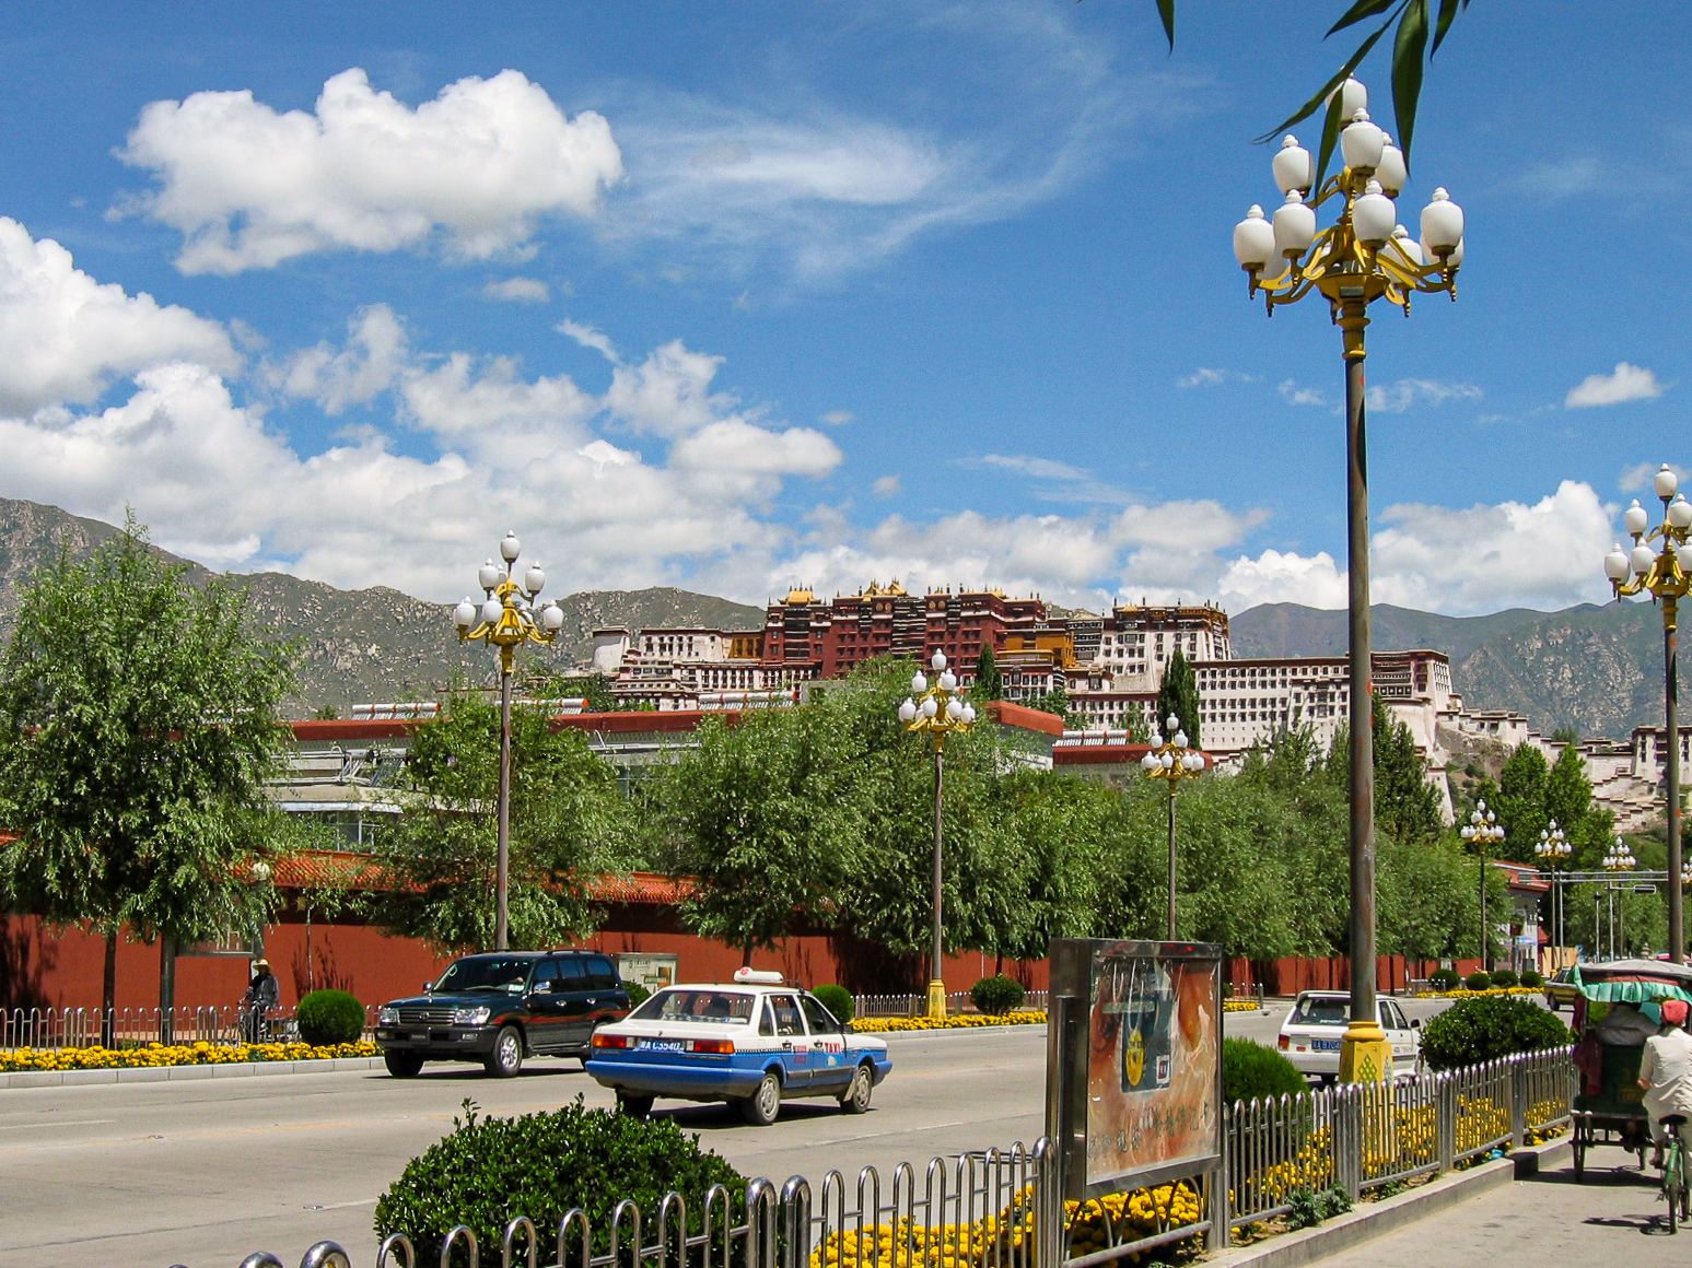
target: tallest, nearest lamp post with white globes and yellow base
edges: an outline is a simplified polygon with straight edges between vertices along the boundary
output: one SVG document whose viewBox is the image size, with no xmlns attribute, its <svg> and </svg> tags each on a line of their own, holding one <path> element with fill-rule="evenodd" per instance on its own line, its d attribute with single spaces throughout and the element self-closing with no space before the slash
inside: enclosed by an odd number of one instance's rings
<svg viewBox="0 0 1692 1268">
<path fill-rule="evenodd" d="M 1421 211 L 1421 240 L 1398 225 L 1393 199 L 1404 188 L 1403 152 L 1369 122 L 1369 93 L 1355 79 L 1335 90 L 1343 171 L 1320 189 L 1310 150 L 1286 137 L 1274 156 L 1274 178 L 1286 201 L 1267 220 L 1261 206 L 1233 228 L 1233 254 L 1249 294 L 1264 292 L 1271 314 L 1311 292 L 1328 301 L 1343 331 L 1345 463 L 1350 631 L 1350 959 L 1352 1019 L 1340 1050 L 1340 1077 L 1372 1082 L 1393 1077 L 1393 1050 L 1376 1018 L 1374 908 L 1374 735 L 1369 661 L 1369 475 L 1364 443 L 1364 328 L 1369 304 L 1386 299 L 1409 311 L 1415 292 L 1457 294 L 1464 257 L 1464 213 L 1445 189 Z M 1316 208 L 1340 199 L 1333 225 L 1316 232 Z"/>
</svg>

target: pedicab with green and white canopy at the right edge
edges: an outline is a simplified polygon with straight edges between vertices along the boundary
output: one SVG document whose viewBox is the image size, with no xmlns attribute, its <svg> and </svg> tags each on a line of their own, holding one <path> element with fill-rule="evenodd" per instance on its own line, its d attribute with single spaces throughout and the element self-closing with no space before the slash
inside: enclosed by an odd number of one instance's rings
<svg viewBox="0 0 1692 1268">
<path fill-rule="evenodd" d="M 1651 1123 L 1640 1089 L 1645 1040 L 1663 1021 L 1663 999 L 1692 1004 L 1692 965 L 1668 960 L 1607 960 L 1575 965 L 1577 1070 L 1574 1097 L 1575 1180 L 1585 1177 L 1587 1150 L 1619 1145 L 1640 1160 L 1651 1143 Z M 1623 1163 L 1626 1165 L 1626 1163 Z"/>
</svg>

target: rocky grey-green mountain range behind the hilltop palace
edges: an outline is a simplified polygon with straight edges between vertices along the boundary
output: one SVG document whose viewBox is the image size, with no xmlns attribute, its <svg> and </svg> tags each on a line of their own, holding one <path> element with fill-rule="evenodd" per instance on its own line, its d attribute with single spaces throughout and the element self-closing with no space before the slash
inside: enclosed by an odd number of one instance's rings
<svg viewBox="0 0 1692 1268">
<path fill-rule="evenodd" d="M 0 631 L 17 610 L 19 585 L 61 544 L 80 555 L 117 533 L 59 507 L 0 499 Z M 212 575 L 191 560 L 178 561 L 196 580 Z M 460 646 L 442 604 L 387 587 L 337 590 L 274 571 L 225 580 L 247 592 L 255 624 L 299 639 L 298 681 L 288 700 L 299 717 L 321 707 L 345 712 L 354 703 L 426 700 L 455 678 L 492 680 L 492 656 L 481 646 Z M 592 632 L 607 626 L 763 626 L 761 609 L 672 587 L 585 590 L 558 605 L 563 632 L 535 653 L 540 664 L 553 668 L 585 659 Z M 1230 629 L 1235 656 L 1345 653 L 1345 612 L 1338 610 L 1264 604 L 1232 617 Z M 1377 649 L 1443 651 L 1469 707 L 1526 713 L 1545 734 L 1575 727 L 1585 737 L 1621 739 L 1636 725 L 1662 725 L 1662 612 L 1651 604 L 1580 604 L 1562 612 L 1518 607 L 1479 617 L 1374 607 Z"/>
</svg>

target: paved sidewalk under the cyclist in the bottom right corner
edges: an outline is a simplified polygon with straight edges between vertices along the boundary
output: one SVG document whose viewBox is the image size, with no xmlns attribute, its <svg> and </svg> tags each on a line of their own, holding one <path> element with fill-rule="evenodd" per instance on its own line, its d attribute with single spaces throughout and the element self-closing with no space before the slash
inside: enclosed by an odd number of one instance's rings
<svg viewBox="0 0 1692 1268">
<path fill-rule="evenodd" d="M 1655 1180 L 1636 1170 L 1609 1170 L 1633 1156 L 1597 1148 L 1587 1156 L 1585 1183 L 1563 1165 L 1530 1180 L 1469 1199 L 1387 1232 L 1364 1246 L 1320 1260 L 1321 1268 L 1656 1268 L 1692 1261 L 1692 1231 L 1668 1236 Z"/>
</svg>

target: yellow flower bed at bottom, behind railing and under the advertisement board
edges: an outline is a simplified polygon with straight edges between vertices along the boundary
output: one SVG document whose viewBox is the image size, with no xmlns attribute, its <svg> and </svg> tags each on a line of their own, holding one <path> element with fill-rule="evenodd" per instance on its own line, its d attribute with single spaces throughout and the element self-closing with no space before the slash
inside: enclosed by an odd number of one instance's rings
<svg viewBox="0 0 1692 1268">
<path fill-rule="evenodd" d="M 863 1232 L 831 1232 L 810 1253 L 810 1268 L 992 1268 L 1008 1263 L 1034 1236 L 1034 1189 L 1017 1194 L 997 1216 L 973 1224 L 942 1224 L 929 1229 L 909 1219 L 873 1224 Z M 1203 1216 L 1198 1190 L 1189 1183 L 1139 1189 L 1132 1194 L 1108 1194 L 1088 1202 L 1064 1202 L 1064 1227 L 1069 1232 L 1069 1256 L 1139 1241 L 1162 1229 L 1196 1224 Z M 1171 1251 L 1196 1254 L 1201 1239 L 1193 1238 Z M 1137 1263 L 1145 1251 L 1123 1254 Z"/>
</svg>

